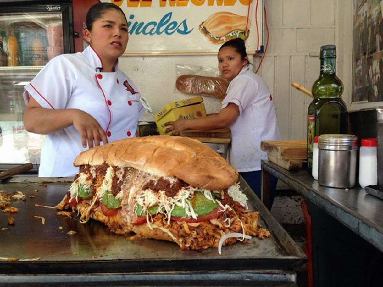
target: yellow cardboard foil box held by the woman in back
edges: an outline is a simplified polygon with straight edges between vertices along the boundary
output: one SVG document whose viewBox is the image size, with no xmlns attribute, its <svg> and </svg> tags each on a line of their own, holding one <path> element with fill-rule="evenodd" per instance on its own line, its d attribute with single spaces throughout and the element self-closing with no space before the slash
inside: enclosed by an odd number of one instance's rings
<svg viewBox="0 0 383 287">
<path fill-rule="evenodd" d="M 164 126 L 165 122 L 176 121 L 180 116 L 184 119 L 206 117 L 205 105 L 202 102 L 203 98 L 198 96 L 165 104 L 164 107 L 154 114 L 154 120 L 159 133 L 165 135 L 165 130 L 167 129 L 167 127 Z"/>
</svg>

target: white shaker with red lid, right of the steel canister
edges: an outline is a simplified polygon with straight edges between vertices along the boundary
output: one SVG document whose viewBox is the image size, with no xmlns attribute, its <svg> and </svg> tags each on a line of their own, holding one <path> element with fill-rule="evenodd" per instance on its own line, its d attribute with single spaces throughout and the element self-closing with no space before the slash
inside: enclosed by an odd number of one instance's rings
<svg viewBox="0 0 383 287">
<path fill-rule="evenodd" d="M 362 139 L 359 149 L 359 185 L 365 188 L 368 185 L 378 184 L 376 139 Z"/>
</svg>

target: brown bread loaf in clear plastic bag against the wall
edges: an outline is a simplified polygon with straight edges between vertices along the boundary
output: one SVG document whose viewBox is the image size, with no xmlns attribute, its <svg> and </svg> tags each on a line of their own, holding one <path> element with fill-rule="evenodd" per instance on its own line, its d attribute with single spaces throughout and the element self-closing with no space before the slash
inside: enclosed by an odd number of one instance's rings
<svg viewBox="0 0 383 287">
<path fill-rule="evenodd" d="M 178 77 L 175 86 L 185 94 L 215 96 L 223 99 L 226 96 L 228 82 L 218 77 L 187 74 Z"/>
</svg>

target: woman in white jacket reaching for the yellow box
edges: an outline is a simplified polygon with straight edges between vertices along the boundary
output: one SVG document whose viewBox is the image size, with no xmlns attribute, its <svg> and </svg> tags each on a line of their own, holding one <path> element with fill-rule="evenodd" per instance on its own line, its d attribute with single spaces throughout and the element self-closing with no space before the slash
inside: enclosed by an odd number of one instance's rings
<svg viewBox="0 0 383 287">
<path fill-rule="evenodd" d="M 229 127 L 231 146 L 228 160 L 260 197 L 262 140 L 280 139 L 273 98 L 264 80 L 249 68 L 246 46 L 242 39 L 224 43 L 218 52 L 218 68 L 230 81 L 221 110 L 199 119 L 178 119 L 168 122 L 167 132 L 178 135 L 183 130 L 213 130 Z M 274 198 L 277 179 L 270 180 L 270 203 Z M 271 206 L 271 205 L 270 205 Z"/>
</svg>

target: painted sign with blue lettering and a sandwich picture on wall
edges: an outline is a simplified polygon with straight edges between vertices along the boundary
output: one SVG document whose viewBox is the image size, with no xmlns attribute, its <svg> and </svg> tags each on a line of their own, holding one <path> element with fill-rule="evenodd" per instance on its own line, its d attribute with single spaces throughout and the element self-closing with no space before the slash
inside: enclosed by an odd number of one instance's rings
<svg viewBox="0 0 383 287">
<path fill-rule="evenodd" d="M 262 45 L 263 0 L 101 2 L 118 5 L 126 15 L 126 55 L 216 54 L 224 42 L 238 37 L 246 39 L 249 54 Z"/>
</svg>

